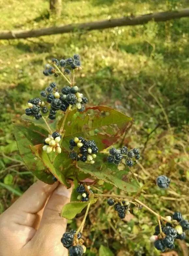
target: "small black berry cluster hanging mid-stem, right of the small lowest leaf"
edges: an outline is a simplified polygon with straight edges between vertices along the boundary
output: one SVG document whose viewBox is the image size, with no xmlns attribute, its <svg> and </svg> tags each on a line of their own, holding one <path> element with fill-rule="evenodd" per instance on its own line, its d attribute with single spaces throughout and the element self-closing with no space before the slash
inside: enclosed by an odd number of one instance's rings
<svg viewBox="0 0 189 256">
<path fill-rule="evenodd" d="M 109 198 L 107 200 L 107 203 L 110 206 L 114 205 L 114 209 L 116 210 L 116 212 L 118 213 L 118 216 L 121 219 L 124 219 L 126 214 L 130 214 L 130 212 L 129 212 L 129 210 L 130 210 L 130 208 L 129 208 L 130 203 L 128 201 L 122 200 L 122 201 L 117 201 L 115 203 L 115 200 L 113 198 Z"/>
</svg>

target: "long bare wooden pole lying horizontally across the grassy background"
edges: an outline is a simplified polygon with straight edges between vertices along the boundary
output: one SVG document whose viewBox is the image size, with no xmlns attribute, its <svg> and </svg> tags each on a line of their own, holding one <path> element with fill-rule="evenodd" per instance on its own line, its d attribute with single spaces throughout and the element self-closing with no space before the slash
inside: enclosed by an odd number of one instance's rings
<svg viewBox="0 0 189 256">
<path fill-rule="evenodd" d="M 39 37 L 52 34 L 69 33 L 75 31 L 89 31 L 94 29 L 104 29 L 116 26 L 134 26 L 145 24 L 149 21 L 167 21 L 171 19 L 179 19 L 182 17 L 189 17 L 189 8 L 182 9 L 180 11 L 165 11 L 156 12 L 139 16 L 128 16 L 120 19 L 111 19 L 104 21 L 95 21 L 88 23 L 77 23 L 66 26 L 47 27 L 41 29 L 32 30 L 12 30 L 12 31 L 0 31 L 0 39 L 17 39 L 17 38 L 30 38 Z"/>
</svg>

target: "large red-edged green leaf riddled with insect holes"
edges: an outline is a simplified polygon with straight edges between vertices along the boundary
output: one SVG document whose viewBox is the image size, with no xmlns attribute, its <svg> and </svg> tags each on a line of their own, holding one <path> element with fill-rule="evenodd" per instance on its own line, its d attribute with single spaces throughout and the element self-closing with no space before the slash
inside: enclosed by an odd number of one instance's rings
<svg viewBox="0 0 189 256">
<path fill-rule="evenodd" d="M 60 120 L 60 128 L 63 119 Z M 109 107 L 97 106 L 88 108 L 84 113 L 73 110 L 68 113 L 65 122 L 63 146 L 68 149 L 69 140 L 84 136 L 95 140 L 99 150 L 109 147 L 123 135 L 131 117 Z"/>
</svg>

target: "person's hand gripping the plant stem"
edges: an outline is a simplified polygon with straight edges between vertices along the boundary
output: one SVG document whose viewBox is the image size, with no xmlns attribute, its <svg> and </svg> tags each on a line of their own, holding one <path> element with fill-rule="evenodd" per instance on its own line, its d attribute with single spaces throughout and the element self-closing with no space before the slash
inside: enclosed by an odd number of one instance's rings
<svg viewBox="0 0 189 256">
<path fill-rule="evenodd" d="M 67 221 L 59 216 L 71 189 L 34 183 L 0 215 L 0 256 L 67 256 L 61 244 Z"/>
</svg>

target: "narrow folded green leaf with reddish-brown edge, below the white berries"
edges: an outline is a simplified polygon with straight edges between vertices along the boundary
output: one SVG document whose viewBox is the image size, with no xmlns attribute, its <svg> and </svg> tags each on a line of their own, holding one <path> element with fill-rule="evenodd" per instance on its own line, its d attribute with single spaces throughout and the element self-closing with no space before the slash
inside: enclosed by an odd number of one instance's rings
<svg viewBox="0 0 189 256">
<path fill-rule="evenodd" d="M 37 158 L 39 158 L 44 166 L 49 169 L 49 171 L 55 176 L 62 184 L 64 184 L 67 188 L 71 186 L 70 183 L 67 183 L 65 176 L 61 169 L 56 168 L 56 164 L 53 164 L 46 151 L 42 150 L 42 144 L 30 146 L 32 152 L 36 155 Z"/>
</svg>

